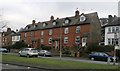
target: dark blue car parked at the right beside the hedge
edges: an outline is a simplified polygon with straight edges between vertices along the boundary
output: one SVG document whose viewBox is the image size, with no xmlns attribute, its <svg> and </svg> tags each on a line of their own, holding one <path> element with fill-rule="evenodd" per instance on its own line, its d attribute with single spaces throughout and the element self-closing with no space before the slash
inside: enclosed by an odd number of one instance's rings
<svg viewBox="0 0 120 71">
<path fill-rule="evenodd" d="M 107 61 L 108 58 L 110 59 L 111 62 L 114 60 L 114 58 L 116 61 L 118 60 L 118 57 L 113 57 L 104 52 L 92 52 L 91 54 L 89 54 L 88 57 L 91 60 L 100 60 L 100 61 Z"/>
</svg>

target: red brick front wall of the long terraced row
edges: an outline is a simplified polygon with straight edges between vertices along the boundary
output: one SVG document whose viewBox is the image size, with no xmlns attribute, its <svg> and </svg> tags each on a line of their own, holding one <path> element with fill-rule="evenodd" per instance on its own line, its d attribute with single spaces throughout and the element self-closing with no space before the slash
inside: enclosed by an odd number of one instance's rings
<svg viewBox="0 0 120 71">
<path fill-rule="evenodd" d="M 78 25 L 77 25 L 78 26 Z M 69 28 L 68 34 L 64 33 L 64 29 L 66 27 L 62 27 L 62 46 L 68 46 L 68 47 L 73 47 L 76 46 L 75 43 L 75 38 L 76 36 L 80 36 L 80 46 L 82 44 L 82 37 L 84 33 L 89 33 L 90 32 L 90 24 L 84 24 L 84 25 L 79 25 L 80 26 L 80 33 L 76 33 L 76 26 L 67 26 Z M 21 32 L 21 40 L 26 40 L 26 43 L 29 45 L 32 45 L 33 47 L 37 48 L 40 47 L 41 43 L 41 38 L 44 39 L 44 45 L 46 46 L 52 46 L 52 44 L 49 44 L 49 38 L 52 39 L 59 39 L 60 38 L 60 28 L 52 28 L 52 35 L 49 35 L 49 30 L 50 29 L 44 29 L 44 30 L 36 30 L 36 31 L 29 31 L 29 32 Z M 41 35 L 41 32 L 44 31 L 44 35 Z M 33 36 L 30 37 L 30 33 L 33 33 Z M 26 38 L 24 37 L 26 33 Z M 68 44 L 64 44 L 64 37 L 68 37 Z M 32 39 L 35 40 L 33 44 L 31 43 Z M 87 37 L 89 39 L 89 37 Z M 87 40 L 88 41 L 88 40 Z M 58 44 L 59 41 L 58 41 Z M 53 46 L 55 46 L 55 43 L 53 43 Z"/>
</svg>

